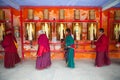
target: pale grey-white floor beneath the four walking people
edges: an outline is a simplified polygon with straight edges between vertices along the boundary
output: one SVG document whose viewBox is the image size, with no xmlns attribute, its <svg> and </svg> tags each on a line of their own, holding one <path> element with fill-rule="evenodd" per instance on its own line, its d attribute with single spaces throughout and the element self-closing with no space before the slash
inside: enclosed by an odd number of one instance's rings
<svg viewBox="0 0 120 80">
<path fill-rule="evenodd" d="M 35 69 L 35 60 L 24 60 L 15 68 L 5 69 L 0 60 L 0 80 L 120 80 L 120 59 L 110 66 L 97 68 L 92 59 L 75 60 L 76 67 L 66 67 L 64 60 L 52 60 L 50 68 Z"/>
</svg>

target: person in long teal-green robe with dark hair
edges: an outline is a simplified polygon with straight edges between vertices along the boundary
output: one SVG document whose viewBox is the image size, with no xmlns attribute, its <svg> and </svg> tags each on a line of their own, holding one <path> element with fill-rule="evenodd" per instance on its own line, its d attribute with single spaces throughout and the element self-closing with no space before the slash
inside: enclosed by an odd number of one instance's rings
<svg viewBox="0 0 120 80">
<path fill-rule="evenodd" d="M 69 28 L 66 29 L 66 38 L 65 38 L 65 59 L 67 66 L 74 68 L 74 39 L 71 36 L 71 31 Z"/>
</svg>

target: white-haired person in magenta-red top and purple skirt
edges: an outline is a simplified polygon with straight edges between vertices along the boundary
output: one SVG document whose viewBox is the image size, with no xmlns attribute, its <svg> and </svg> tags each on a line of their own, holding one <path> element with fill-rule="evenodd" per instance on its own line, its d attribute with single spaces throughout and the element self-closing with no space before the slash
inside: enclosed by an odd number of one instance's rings
<svg viewBox="0 0 120 80">
<path fill-rule="evenodd" d="M 44 69 L 51 65 L 49 40 L 44 31 L 40 30 L 38 34 L 36 69 Z"/>
</svg>

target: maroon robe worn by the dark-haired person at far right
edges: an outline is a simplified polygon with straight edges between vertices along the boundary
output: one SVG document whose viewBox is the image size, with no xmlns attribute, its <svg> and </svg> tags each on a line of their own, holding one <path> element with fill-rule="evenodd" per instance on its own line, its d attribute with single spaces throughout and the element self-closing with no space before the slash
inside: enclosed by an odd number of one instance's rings
<svg viewBox="0 0 120 80">
<path fill-rule="evenodd" d="M 96 45 L 96 59 L 95 65 L 101 67 L 103 65 L 109 65 L 110 59 L 108 56 L 109 41 L 105 34 L 102 34 L 95 42 Z"/>
</svg>

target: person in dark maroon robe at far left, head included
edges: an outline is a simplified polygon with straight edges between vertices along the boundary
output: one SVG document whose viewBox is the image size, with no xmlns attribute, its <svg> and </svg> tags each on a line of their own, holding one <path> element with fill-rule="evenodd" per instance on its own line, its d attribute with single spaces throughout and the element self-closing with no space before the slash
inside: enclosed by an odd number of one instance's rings
<svg viewBox="0 0 120 80">
<path fill-rule="evenodd" d="M 5 50 L 5 56 L 4 56 L 5 68 L 12 68 L 15 66 L 16 63 L 20 62 L 20 57 L 18 56 L 18 53 L 17 53 L 16 43 L 17 41 L 14 35 L 12 34 L 12 30 L 7 29 L 6 35 L 2 42 L 2 46 Z"/>
</svg>

